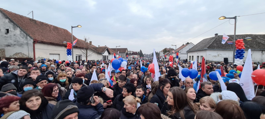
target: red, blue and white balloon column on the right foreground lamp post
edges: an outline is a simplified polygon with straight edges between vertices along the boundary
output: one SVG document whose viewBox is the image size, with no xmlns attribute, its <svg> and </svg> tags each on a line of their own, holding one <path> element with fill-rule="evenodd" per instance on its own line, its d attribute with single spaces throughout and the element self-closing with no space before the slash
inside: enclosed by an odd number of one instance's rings
<svg viewBox="0 0 265 119">
<path fill-rule="evenodd" d="M 243 58 L 245 57 L 244 56 L 244 53 L 245 53 L 245 43 L 243 42 L 243 39 L 237 39 L 236 40 L 236 55 L 235 55 L 235 62 L 234 64 L 236 65 L 243 65 Z"/>
</svg>

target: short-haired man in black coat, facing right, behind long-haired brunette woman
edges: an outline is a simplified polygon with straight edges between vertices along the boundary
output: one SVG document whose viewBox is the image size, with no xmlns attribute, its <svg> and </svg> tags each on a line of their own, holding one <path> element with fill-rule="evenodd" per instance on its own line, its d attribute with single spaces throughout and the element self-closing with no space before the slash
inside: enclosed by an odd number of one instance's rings
<svg viewBox="0 0 265 119">
<path fill-rule="evenodd" d="M 198 90 L 196 98 L 199 101 L 201 98 L 205 96 L 210 96 L 212 93 L 213 93 L 212 83 L 208 81 L 204 81 L 203 83 L 201 83 L 201 88 Z"/>
</svg>

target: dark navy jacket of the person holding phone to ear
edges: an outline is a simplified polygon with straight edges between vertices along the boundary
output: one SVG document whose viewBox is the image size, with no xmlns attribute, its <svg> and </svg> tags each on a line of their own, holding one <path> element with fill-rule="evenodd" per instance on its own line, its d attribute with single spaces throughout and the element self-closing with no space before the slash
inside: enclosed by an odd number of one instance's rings
<svg viewBox="0 0 265 119">
<path fill-rule="evenodd" d="M 75 105 L 77 105 L 79 110 L 78 119 L 95 119 L 100 117 L 104 111 L 101 103 L 98 103 L 96 106 L 92 106 L 81 105 L 76 101 Z"/>
</svg>

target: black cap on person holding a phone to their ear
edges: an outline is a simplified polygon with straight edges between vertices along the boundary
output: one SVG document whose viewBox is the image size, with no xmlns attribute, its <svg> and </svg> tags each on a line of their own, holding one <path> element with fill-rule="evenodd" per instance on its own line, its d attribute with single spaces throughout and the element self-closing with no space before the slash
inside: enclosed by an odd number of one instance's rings
<svg viewBox="0 0 265 119">
<path fill-rule="evenodd" d="M 91 86 L 84 86 L 78 90 L 76 98 L 79 102 L 84 102 L 88 100 L 95 93 Z"/>
</svg>

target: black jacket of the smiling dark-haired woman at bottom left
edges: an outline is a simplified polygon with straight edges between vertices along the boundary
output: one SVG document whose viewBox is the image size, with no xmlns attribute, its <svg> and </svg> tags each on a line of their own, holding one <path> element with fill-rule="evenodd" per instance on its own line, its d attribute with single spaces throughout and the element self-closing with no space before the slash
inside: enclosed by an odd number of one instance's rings
<svg viewBox="0 0 265 119">
<path fill-rule="evenodd" d="M 31 110 L 26 106 L 20 105 L 20 110 L 24 110 L 30 114 L 31 119 L 52 119 L 51 113 L 54 105 L 48 103 L 46 98 L 42 99 L 42 103 L 37 110 Z"/>
</svg>

